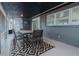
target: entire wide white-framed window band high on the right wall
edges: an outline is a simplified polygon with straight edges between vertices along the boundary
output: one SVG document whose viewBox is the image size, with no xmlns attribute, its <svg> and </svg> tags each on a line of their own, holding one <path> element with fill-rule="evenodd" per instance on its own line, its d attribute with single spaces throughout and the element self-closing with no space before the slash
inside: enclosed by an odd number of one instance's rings
<svg viewBox="0 0 79 59">
<path fill-rule="evenodd" d="M 46 25 L 79 25 L 79 6 L 47 15 Z"/>
</svg>

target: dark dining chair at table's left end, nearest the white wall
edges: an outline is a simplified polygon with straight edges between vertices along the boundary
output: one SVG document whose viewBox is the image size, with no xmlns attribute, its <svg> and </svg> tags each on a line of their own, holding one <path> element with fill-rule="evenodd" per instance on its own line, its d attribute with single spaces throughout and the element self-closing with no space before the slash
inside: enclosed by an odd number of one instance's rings
<svg viewBox="0 0 79 59">
<path fill-rule="evenodd" d="M 16 32 L 14 29 L 13 29 L 13 33 L 14 33 L 13 48 L 15 50 L 16 48 L 20 48 L 22 46 L 23 36 L 20 32 Z"/>
</svg>

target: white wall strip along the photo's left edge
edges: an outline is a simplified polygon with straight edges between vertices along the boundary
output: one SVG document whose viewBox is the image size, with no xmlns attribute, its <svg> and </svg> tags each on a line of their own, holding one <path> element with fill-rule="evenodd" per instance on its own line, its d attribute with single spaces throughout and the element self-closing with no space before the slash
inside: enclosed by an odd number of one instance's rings
<svg viewBox="0 0 79 59">
<path fill-rule="evenodd" d="M 6 13 L 0 3 L 0 50 L 2 55 L 6 51 Z"/>
</svg>

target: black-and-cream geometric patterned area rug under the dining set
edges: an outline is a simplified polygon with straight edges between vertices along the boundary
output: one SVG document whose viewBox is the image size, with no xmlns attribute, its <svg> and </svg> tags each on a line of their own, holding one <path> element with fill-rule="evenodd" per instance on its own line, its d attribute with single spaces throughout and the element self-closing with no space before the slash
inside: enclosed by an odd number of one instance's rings
<svg viewBox="0 0 79 59">
<path fill-rule="evenodd" d="M 52 49 L 54 46 L 46 43 L 31 43 L 28 42 L 25 44 L 25 49 L 23 51 L 23 47 L 20 47 L 16 50 L 11 51 L 11 56 L 39 56 L 40 54 Z"/>
</svg>

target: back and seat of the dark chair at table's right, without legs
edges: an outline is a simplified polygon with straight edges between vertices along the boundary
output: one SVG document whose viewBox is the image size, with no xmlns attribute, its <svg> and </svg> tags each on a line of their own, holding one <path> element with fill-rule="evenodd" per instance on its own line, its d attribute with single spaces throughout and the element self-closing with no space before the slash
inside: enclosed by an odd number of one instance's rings
<svg viewBox="0 0 79 59">
<path fill-rule="evenodd" d="M 43 41 L 43 30 L 34 30 L 31 35 L 28 36 L 29 42 L 42 42 Z"/>
</svg>

